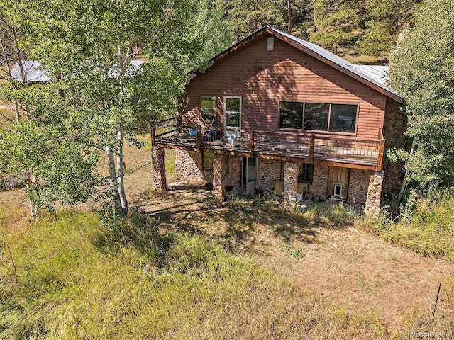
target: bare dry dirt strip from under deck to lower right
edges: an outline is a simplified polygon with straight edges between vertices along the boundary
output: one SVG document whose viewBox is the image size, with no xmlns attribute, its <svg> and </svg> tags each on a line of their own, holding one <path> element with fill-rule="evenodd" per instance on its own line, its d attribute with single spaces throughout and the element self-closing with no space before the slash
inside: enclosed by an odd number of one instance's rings
<svg viewBox="0 0 454 340">
<path fill-rule="evenodd" d="M 213 208 L 211 193 L 201 188 L 174 186 L 146 210 L 162 228 L 209 236 L 348 310 L 378 315 L 394 339 L 431 324 L 438 284 L 443 287 L 454 273 L 454 263 L 424 258 L 353 226 L 307 227 L 304 221 Z M 452 329 L 452 313 L 442 289 L 435 322 Z"/>
</svg>

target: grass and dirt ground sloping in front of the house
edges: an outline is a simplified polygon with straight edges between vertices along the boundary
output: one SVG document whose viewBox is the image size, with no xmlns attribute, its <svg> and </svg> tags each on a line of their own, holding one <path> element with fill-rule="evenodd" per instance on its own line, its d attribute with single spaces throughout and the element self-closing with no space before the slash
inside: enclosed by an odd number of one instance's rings
<svg viewBox="0 0 454 340">
<path fill-rule="evenodd" d="M 128 151 L 127 168 L 146 162 L 146 147 Z M 406 339 L 409 329 L 453 330 L 453 263 L 384 242 L 338 205 L 218 205 L 210 191 L 181 184 L 161 196 L 143 181 L 149 171 L 126 178 L 146 215 L 113 227 L 89 205 L 29 222 L 23 192 L 0 193 L 18 269 L 15 283 L 2 243 L 0 339 Z"/>
</svg>

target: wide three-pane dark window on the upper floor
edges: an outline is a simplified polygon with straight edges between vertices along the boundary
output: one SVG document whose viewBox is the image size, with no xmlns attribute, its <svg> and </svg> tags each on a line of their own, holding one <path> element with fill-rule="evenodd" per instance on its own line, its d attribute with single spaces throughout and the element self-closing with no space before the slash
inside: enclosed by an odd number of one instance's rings
<svg viewBox="0 0 454 340">
<path fill-rule="evenodd" d="M 279 128 L 355 133 L 358 105 L 279 102 Z"/>
</svg>

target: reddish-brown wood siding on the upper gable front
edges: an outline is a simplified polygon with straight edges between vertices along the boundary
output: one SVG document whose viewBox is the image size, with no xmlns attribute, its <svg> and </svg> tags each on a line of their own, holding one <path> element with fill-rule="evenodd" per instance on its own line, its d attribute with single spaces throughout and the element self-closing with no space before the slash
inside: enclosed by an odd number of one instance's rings
<svg viewBox="0 0 454 340">
<path fill-rule="evenodd" d="M 215 128 L 223 126 L 223 97 L 241 96 L 242 128 L 254 130 L 279 130 L 279 101 L 352 103 L 360 106 L 358 128 L 355 135 L 346 135 L 377 140 L 386 106 L 383 94 L 277 38 L 274 50 L 267 51 L 267 38 L 192 79 L 182 96 L 187 104 L 183 123 L 200 121 L 201 96 L 218 98 Z"/>
</svg>

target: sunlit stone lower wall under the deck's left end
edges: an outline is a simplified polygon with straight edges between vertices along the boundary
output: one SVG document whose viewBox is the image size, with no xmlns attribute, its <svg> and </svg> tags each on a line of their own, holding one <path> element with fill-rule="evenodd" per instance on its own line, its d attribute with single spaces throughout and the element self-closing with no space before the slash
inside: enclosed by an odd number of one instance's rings
<svg viewBox="0 0 454 340">
<path fill-rule="evenodd" d="M 203 170 L 201 157 L 201 152 L 176 150 L 175 174 L 177 180 L 211 183 L 213 171 Z"/>
</svg>

